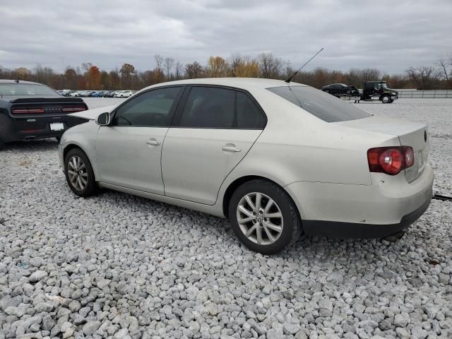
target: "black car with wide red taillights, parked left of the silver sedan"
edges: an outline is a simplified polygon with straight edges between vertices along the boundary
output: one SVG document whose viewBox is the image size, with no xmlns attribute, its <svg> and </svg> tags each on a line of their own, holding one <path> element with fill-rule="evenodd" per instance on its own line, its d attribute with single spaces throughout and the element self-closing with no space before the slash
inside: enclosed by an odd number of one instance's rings
<svg viewBox="0 0 452 339">
<path fill-rule="evenodd" d="M 85 111 L 79 97 L 62 97 L 52 88 L 30 81 L 0 80 L 0 148 L 4 143 L 59 138 L 85 119 L 67 114 Z"/>
</svg>

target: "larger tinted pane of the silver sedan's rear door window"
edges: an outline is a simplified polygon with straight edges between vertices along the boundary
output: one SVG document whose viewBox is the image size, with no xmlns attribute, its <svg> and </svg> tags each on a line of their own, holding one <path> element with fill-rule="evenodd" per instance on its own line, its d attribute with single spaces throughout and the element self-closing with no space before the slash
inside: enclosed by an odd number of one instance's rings
<svg viewBox="0 0 452 339">
<path fill-rule="evenodd" d="M 234 126 L 234 90 L 213 87 L 191 88 L 180 126 L 231 129 Z"/>
</svg>

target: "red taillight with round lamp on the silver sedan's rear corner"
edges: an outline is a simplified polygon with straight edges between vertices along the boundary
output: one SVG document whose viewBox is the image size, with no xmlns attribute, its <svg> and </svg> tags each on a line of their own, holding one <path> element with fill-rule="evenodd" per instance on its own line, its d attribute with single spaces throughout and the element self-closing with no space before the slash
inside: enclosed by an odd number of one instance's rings
<svg viewBox="0 0 452 339">
<path fill-rule="evenodd" d="M 367 150 L 367 162 L 370 172 L 396 175 L 414 165 L 415 154 L 410 146 L 370 148 Z"/>
</svg>

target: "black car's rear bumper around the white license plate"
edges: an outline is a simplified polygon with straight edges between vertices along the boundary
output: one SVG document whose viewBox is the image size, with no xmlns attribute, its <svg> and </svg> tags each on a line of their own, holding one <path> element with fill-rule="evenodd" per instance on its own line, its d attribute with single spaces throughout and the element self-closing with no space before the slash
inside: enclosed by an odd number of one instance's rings
<svg viewBox="0 0 452 339">
<path fill-rule="evenodd" d="M 85 119 L 68 115 L 7 117 L 2 119 L 4 126 L 0 129 L 0 138 L 5 142 L 42 139 L 62 136 L 64 131 L 85 122 Z M 64 129 L 52 131 L 50 124 L 61 123 Z"/>
</svg>

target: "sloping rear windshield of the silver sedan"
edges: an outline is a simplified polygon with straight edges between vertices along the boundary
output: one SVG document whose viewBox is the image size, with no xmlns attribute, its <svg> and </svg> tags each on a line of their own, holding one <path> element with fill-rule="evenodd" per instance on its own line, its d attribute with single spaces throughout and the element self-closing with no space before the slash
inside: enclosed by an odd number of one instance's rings
<svg viewBox="0 0 452 339">
<path fill-rule="evenodd" d="M 309 86 L 283 86 L 267 89 L 326 122 L 371 117 L 371 114 L 362 109 Z"/>
</svg>

